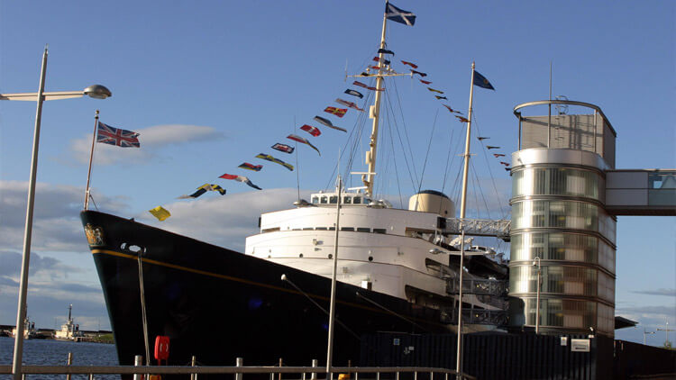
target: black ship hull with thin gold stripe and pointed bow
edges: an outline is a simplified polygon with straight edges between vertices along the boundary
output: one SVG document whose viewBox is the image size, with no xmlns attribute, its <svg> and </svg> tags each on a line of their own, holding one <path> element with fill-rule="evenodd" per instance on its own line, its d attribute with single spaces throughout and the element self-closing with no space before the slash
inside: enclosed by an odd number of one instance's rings
<svg viewBox="0 0 676 380">
<path fill-rule="evenodd" d="M 169 365 L 325 362 L 328 315 L 310 299 L 328 310 L 330 279 L 106 213 L 81 218 L 121 365 L 145 356 L 139 254 L 151 356 L 155 337 L 169 336 Z M 363 334 L 448 331 L 438 311 L 387 294 L 338 283 L 336 300 L 334 366 L 359 364 Z"/>
</svg>

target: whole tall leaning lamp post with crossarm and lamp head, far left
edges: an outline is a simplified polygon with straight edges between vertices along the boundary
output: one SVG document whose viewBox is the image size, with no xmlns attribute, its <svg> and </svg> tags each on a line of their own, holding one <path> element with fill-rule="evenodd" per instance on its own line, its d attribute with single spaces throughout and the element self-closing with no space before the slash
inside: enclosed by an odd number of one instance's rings
<svg viewBox="0 0 676 380">
<path fill-rule="evenodd" d="M 32 238 L 32 214 L 35 200 L 35 178 L 38 171 L 38 146 L 40 143 L 40 122 L 42 118 L 42 102 L 45 100 L 69 99 L 88 95 L 96 99 L 105 99 L 111 96 L 110 90 L 105 86 L 88 86 L 82 91 L 60 91 L 53 93 L 44 92 L 45 73 L 47 71 L 48 49 L 45 46 L 42 54 L 42 68 L 40 73 L 40 86 L 37 93 L 24 94 L 0 94 L 0 100 L 36 101 L 38 104 L 35 113 L 35 131 L 32 140 L 31 177 L 28 182 L 28 204 L 26 205 L 26 227 L 23 232 L 23 258 L 21 262 L 21 283 L 19 285 L 19 303 L 16 312 L 16 337 L 14 338 L 14 361 L 12 362 L 12 374 L 14 380 L 22 379 L 22 356 L 23 356 L 23 318 L 25 318 L 26 292 L 28 290 L 28 267 L 31 255 Z"/>
</svg>

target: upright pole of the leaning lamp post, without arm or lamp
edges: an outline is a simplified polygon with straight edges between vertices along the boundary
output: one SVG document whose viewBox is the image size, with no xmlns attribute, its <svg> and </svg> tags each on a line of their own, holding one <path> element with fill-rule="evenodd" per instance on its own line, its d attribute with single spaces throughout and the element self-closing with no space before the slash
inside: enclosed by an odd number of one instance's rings
<svg viewBox="0 0 676 380">
<path fill-rule="evenodd" d="M 35 131 L 32 138 L 31 178 L 28 182 L 28 204 L 26 205 L 26 227 L 23 231 L 23 258 L 21 262 L 21 283 L 19 285 L 19 303 L 16 311 L 16 337 L 14 338 L 14 361 L 12 375 L 14 380 L 22 379 L 23 360 L 23 319 L 26 311 L 26 293 L 28 291 L 28 267 L 31 261 L 32 210 L 35 203 L 35 181 L 38 175 L 38 147 L 40 145 L 40 122 L 42 119 L 42 101 L 44 96 L 45 74 L 47 72 L 47 47 L 42 54 L 40 86 L 38 88 L 38 108 L 35 112 Z"/>
</svg>

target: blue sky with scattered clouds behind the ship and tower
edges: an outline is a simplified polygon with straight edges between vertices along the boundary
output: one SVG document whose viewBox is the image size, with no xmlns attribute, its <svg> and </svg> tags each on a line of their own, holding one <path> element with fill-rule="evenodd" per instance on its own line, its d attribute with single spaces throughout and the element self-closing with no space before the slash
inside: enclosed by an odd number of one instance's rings
<svg viewBox="0 0 676 380">
<path fill-rule="evenodd" d="M 370 64 L 383 3 L 0 2 L 0 94 L 37 91 L 45 44 L 46 91 L 102 84 L 113 93 L 103 101 L 85 97 L 43 105 L 28 295 L 32 320 L 41 328 L 58 327 L 73 303 L 82 329 L 110 327 L 78 220 L 96 109 L 102 122 L 140 132 L 142 144 L 96 144 L 96 207 L 199 240 L 243 249 L 260 213 L 288 208 L 298 193 L 307 197 L 331 188 L 335 167 L 348 185 L 361 185 L 348 172 L 366 170 L 368 119 L 354 110 L 342 119 L 323 110 L 338 105 L 337 97 L 360 101 L 343 94 L 360 89 L 349 86 L 351 78 L 346 83 L 345 73 L 358 74 Z M 417 19 L 413 27 L 388 24 L 393 68 L 407 72 L 400 60 L 415 62 L 433 81 L 430 86 L 445 92 L 445 104 L 463 113 L 472 61 L 496 87 L 474 91 L 474 136 L 490 139 L 472 139 L 468 216 L 508 215 L 510 178 L 492 153 L 509 158 L 516 150 L 512 110 L 549 96 L 550 63 L 554 96 L 597 104 L 612 122 L 617 168 L 676 167 L 673 2 L 394 4 Z M 418 188 L 430 188 L 457 201 L 464 124 L 417 78 L 400 77 L 386 86 L 382 113 L 397 121 L 397 129 L 381 131 L 386 143 L 379 147 L 377 193 L 407 204 Z M 313 123 L 315 115 L 348 132 Z M 32 102 L 0 102 L 0 324 L 15 322 L 34 118 Z M 323 134 L 298 130 L 305 123 Z M 359 131 L 362 138 L 349 145 Z M 289 133 L 311 140 L 321 156 L 307 146 L 298 146 L 297 155 L 269 149 L 275 142 L 293 143 Z M 258 153 L 274 153 L 297 171 L 254 158 Z M 237 168 L 245 161 L 264 168 Z M 224 173 L 249 176 L 264 190 L 219 179 Z M 176 199 L 205 183 L 222 185 L 228 194 Z M 147 212 L 157 205 L 172 213 L 167 221 Z M 642 341 L 644 329 L 676 324 L 676 218 L 617 219 L 616 314 L 640 324 L 618 330 L 616 338 Z M 494 244 L 508 252 L 507 245 Z M 663 341 L 661 332 L 647 336 L 648 344 Z"/>
</svg>

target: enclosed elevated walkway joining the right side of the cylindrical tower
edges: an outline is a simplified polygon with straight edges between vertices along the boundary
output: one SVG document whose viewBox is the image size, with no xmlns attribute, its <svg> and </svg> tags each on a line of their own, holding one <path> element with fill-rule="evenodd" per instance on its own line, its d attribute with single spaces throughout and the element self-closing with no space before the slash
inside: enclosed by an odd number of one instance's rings
<svg viewBox="0 0 676 380">
<path fill-rule="evenodd" d="M 613 215 L 676 215 L 676 169 L 606 170 L 606 209 Z"/>
</svg>

